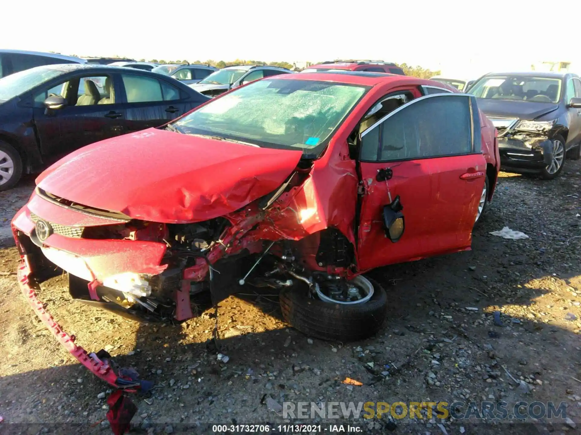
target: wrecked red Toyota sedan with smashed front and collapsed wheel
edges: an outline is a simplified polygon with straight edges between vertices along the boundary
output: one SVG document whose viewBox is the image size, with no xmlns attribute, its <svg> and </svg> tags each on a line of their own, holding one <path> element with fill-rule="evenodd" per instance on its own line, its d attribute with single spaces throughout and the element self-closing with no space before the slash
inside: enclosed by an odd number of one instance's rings
<svg viewBox="0 0 581 435">
<path fill-rule="evenodd" d="M 268 77 L 161 128 L 91 144 L 42 173 L 12 228 L 21 289 L 91 371 L 116 375 L 38 301 L 40 272 L 123 315 L 192 317 L 243 285 L 279 289 L 295 328 L 378 331 L 374 267 L 470 249 L 496 185 L 496 131 L 476 99 L 364 72 Z"/>
</svg>

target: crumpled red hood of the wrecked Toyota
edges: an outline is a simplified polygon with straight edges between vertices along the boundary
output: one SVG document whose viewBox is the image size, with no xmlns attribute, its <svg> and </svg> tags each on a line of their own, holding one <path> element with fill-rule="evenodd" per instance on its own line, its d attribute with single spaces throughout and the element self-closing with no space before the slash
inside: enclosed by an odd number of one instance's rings
<svg viewBox="0 0 581 435">
<path fill-rule="evenodd" d="M 301 155 L 151 128 L 74 151 L 36 182 L 59 197 L 134 219 L 200 222 L 277 189 Z"/>
</svg>

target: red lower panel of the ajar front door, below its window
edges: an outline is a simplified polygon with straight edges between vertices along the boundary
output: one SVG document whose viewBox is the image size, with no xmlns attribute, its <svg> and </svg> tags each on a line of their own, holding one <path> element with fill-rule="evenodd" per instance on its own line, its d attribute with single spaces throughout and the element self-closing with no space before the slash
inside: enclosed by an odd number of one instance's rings
<svg viewBox="0 0 581 435">
<path fill-rule="evenodd" d="M 392 169 L 392 179 L 378 182 L 377 172 L 383 168 Z M 460 177 L 465 173 L 476 176 L 463 180 Z M 485 173 L 482 154 L 362 163 L 360 269 L 469 249 Z M 393 243 L 385 234 L 382 211 L 398 195 L 406 227 Z"/>
</svg>

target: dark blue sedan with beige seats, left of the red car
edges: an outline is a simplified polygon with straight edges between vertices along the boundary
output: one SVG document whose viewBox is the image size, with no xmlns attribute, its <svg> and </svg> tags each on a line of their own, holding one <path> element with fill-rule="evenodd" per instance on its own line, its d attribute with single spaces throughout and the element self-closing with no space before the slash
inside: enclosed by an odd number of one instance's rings
<svg viewBox="0 0 581 435">
<path fill-rule="evenodd" d="M 166 124 L 209 100 L 167 75 L 49 65 L 0 79 L 0 190 L 89 143 Z"/>
</svg>

